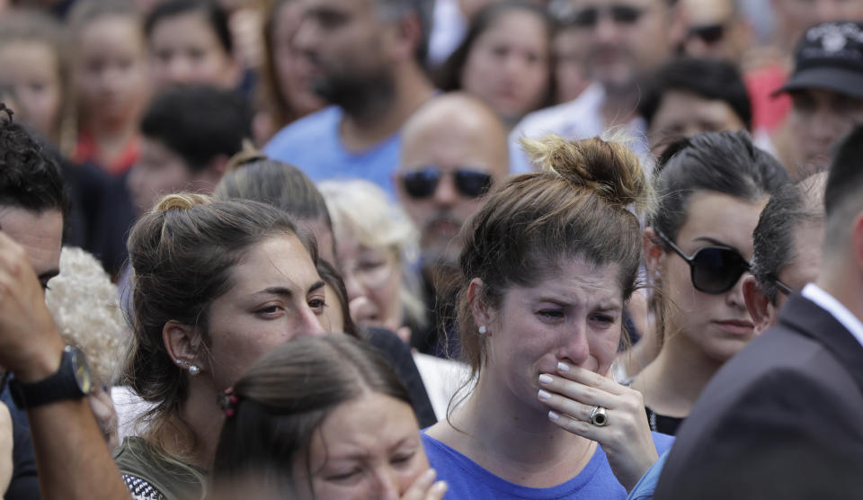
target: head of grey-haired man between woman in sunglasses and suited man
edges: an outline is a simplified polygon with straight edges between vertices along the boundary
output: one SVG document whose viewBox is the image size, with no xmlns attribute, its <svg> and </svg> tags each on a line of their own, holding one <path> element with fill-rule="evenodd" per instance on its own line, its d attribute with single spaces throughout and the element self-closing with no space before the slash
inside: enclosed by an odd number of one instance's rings
<svg viewBox="0 0 863 500">
<path fill-rule="evenodd" d="M 743 298 L 758 334 L 778 323 L 779 310 L 792 293 L 817 278 L 826 182 L 826 172 L 807 177 L 773 195 L 761 212 L 752 233 L 752 275 L 743 281 Z"/>
</svg>

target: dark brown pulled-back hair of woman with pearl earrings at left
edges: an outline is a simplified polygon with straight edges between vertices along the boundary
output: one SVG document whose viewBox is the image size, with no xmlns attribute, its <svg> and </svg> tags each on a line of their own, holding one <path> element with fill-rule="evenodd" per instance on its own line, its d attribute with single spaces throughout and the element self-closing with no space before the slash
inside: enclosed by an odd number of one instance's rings
<svg viewBox="0 0 863 500">
<path fill-rule="evenodd" d="M 209 345 L 209 306 L 230 290 L 231 269 L 253 246 L 280 235 L 297 236 L 317 262 L 314 244 L 298 233 L 288 215 L 255 201 L 172 194 L 132 228 L 134 339 L 125 381 L 156 404 L 145 416 L 151 436 L 158 436 L 166 417 L 176 415 L 188 389 L 189 375 L 165 349 L 165 324 L 173 320 L 195 326 L 202 343 Z M 161 443 L 155 439 L 155 444 Z"/>
</svg>

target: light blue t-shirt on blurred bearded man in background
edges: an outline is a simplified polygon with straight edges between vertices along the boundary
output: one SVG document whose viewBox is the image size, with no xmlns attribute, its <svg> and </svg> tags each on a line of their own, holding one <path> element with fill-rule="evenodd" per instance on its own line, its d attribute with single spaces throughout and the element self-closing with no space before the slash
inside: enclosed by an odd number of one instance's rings
<svg viewBox="0 0 863 500">
<path fill-rule="evenodd" d="M 327 179 L 365 179 L 378 184 L 395 199 L 392 174 L 399 162 L 398 133 L 365 151 L 349 151 L 342 144 L 342 108 L 329 106 L 281 129 L 263 152 L 298 166 L 314 182 Z"/>
</svg>

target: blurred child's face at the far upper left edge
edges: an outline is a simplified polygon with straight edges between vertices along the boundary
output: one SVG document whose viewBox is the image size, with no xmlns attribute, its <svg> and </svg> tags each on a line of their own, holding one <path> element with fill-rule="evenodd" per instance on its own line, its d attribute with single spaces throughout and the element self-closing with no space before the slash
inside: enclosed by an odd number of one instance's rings
<svg viewBox="0 0 863 500">
<path fill-rule="evenodd" d="M 0 47 L 0 67 L 0 83 L 13 89 L 21 119 L 57 140 L 63 95 L 57 52 L 40 41 L 13 41 Z"/>
</svg>

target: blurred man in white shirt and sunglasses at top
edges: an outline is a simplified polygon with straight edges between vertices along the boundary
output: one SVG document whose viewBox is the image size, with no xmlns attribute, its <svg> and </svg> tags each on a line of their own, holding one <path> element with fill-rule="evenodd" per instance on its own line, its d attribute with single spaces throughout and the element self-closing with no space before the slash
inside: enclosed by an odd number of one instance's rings
<svg viewBox="0 0 863 500">
<path fill-rule="evenodd" d="M 512 170 L 532 170 L 518 139 L 555 133 L 578 139 L 626 126 L 643 137 L 637 116 L 639 83 L 672 55 L 681 39 L 677 0 L 570 0 L 566 23 L 581 32 L 584 67 L 593 84 L 569 103 L 526 116 L 510 135 Z M 646 145 L 640 149 L 646 151 Z"/>
</svg>

